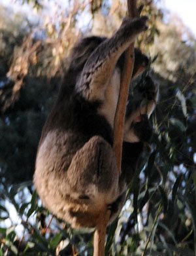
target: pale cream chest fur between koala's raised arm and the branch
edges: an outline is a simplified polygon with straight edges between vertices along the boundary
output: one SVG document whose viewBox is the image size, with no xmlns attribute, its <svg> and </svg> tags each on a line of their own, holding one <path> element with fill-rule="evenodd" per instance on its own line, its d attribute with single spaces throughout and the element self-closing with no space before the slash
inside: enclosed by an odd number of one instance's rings
<svg viewBox="0 0 196 256">
<path fill-rule="evenodd" d="M 99 115 L 103 115 L 109 124 L 114 127 L 114 116 L 116 113 L 116 106 L 118 103 L 118 94 L 120 88 L 120 70 L 118 68 L 114 69 L 114 73 L 108 86 L 105 90 L 105 98 L 103 104 L 98 109 Z"/>
</svg>

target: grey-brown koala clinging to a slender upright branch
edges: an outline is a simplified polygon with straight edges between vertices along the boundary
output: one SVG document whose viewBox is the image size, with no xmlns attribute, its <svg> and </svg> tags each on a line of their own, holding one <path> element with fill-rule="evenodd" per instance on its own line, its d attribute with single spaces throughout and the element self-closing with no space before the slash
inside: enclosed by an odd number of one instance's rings
<svg viewBox="0 0 196 256">
<path fill-rule="evenodd" d="M 144 147 L 154 96 L 136 109 L 127 104 L 122 175 L 112 149 L 124 52 L 147 29 L 146 16 L 125 20 L 110 38 L 88 37 L 73 49 L 56 103 L 46 119 L 37 150 L 34 185 L 41 200 L 74 228 L 97 225 L 99 213 L 111 210 L 113 221 Z M 133 76 L 148 65 L 135 50 Z M 148 83 L 154 83 L 148 79 Z M 143 92 L 142 92 L 143 93 Z M 150 133 L 149 132 L 149 133 Z"/>
</svg>

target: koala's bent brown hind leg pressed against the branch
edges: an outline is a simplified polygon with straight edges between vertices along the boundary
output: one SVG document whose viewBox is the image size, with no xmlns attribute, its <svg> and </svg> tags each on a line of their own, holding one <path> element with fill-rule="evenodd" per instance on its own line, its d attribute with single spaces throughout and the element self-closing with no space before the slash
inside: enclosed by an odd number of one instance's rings
<svg viewBox="0 0 196 256">
<path fill-rule="evenodd" d="M 112 147 L 102 137 L 91 137 L 74 155 L 67 170 L 67 181 L 74 199 L 89 200 L 93 207 L 112 202 L 118 192 Z"/>
</svg>

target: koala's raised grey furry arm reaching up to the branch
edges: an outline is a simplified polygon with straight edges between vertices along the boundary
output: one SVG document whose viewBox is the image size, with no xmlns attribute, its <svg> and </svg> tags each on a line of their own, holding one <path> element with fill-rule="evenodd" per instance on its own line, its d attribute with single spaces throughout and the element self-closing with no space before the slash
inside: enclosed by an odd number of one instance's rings
<svg viewBox="0 0 196 256">
<path fill-rule="evenodd" d="M 118 31 L 101 43 L 88 58 L 76 90 L 88 101 L 104 100 L 105 88 L 122 53 L 146 30 L 146 16 L 135 20 L 127 19 Z"/>
</svg>

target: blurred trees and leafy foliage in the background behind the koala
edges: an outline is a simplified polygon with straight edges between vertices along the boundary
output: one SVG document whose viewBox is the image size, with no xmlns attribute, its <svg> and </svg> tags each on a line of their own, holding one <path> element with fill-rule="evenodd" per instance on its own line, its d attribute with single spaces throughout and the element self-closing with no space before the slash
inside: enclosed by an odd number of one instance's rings
<svg viewBox="0 0 196 256">
<path fill-rule="evenodd" d="M 11 3 L 11 2 L 10 2 Z M 42 125 L 83 36 L 111 35 L 126 1 L 0 2 L 0 255 L 92 255 L 92 232 L 72 230 L 46 211 L 32 186 Z M 159 103 L 147 164 L 137 170 L 106 255 L 196 253 L 195 39 L 159 1 L 144 3 L 149 29 L 137 40 L 154 62 Z M 24 11 L 22 11 L 24 9 Z M 165 21 L 167 20 L 167 22 Z M 136 186 L 136 184 L 140 186 Z"/>
</svg>

